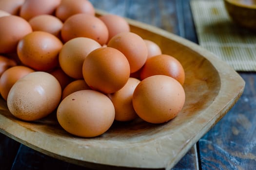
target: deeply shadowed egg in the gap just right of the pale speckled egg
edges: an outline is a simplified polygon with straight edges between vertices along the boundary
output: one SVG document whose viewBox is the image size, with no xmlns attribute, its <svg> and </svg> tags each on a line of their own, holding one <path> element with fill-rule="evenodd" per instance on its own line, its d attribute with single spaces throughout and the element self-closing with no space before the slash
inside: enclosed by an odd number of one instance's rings
<svg viewBox="0 0 256 170">
<path fill-rule="evenodd" d="M 52 74 L 58 81 L 63 90 L 68 84 L 74 81 L 74 79 L 68 76 L 61 68 L 56 68 L 49 72 Z"/>
</svg>

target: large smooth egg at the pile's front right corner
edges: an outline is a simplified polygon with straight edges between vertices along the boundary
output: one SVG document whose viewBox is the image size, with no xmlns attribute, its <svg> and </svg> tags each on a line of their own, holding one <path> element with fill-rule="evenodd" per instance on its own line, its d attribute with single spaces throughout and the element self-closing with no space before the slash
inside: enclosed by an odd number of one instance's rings
<svg viewBox="0 0 256 170">
<path fill-rule="evenodd" d="M 137 85 L 132 102 L 141 119 L 150 123 L 164 123 L 174 119 L 183 108 L 185 92 L 174 78 L 154 75 Z"/>
</svg>

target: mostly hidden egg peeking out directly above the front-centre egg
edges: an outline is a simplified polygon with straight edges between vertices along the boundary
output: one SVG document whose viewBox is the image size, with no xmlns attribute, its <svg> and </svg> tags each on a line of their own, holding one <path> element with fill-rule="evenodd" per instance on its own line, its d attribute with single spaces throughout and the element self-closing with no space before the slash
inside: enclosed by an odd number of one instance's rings
<svg viewBox="0 0 256 170">
<path fill-rule="evenodd" d="M 64 90 L 62 91 L 62 100 L 70 95 L 71 93 L 74 93 L 79 90 L 90 90 L 91 88 L 89 85 L 86 84 L 84 80 L 75 80 L 74 82 L 71 82 L 68 84 Z"/>
</svg>

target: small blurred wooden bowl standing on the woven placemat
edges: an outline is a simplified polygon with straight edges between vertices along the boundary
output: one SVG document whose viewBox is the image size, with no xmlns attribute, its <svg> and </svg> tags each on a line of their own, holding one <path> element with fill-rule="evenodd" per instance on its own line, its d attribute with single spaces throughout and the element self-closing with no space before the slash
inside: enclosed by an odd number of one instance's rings
<svg viewBox="0 0 256 170">
<path fill-rule="evenodd" d="M 234 22 L 256 31 L 256 0 L 224 0 L 224 4 Z"/>
</svg>

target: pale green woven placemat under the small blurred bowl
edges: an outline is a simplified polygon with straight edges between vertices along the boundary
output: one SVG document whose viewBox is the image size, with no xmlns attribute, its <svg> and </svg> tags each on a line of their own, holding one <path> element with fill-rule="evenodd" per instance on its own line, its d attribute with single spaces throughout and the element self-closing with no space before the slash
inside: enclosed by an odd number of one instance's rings
<svg viewBox="0 0 256 170">
<path fill-rule="evenodd" d="M 256 33 L 232 22 L 223 0 L 191 0 L 198 43 L 237 71 L 256 71 Z"/>
</svg>

